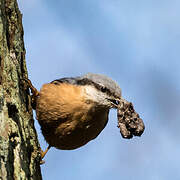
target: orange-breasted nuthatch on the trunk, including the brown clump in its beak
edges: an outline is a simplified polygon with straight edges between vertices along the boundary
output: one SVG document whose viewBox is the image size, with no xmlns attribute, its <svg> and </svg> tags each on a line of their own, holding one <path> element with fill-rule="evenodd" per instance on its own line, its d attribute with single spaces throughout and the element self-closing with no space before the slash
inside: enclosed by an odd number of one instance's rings
<svg viewBox="0 0 180 180">
<path fill-rule="evenodd" d="M 52 146 L 72 150 L 95 139 L 106 126 L 111 108 L 118 109 L 119 127 L 122 127 L 124 138 L 140 136 L 144 131 L 139 115 L 122 99 L 120 87 L 104 75 L 88 73 L 57 79 L 44 84 L 40 92 L 30 81 L 28 84 L 48 149 Z M 42 158 L 47 150 L 42 153 Z"/>
</svg>

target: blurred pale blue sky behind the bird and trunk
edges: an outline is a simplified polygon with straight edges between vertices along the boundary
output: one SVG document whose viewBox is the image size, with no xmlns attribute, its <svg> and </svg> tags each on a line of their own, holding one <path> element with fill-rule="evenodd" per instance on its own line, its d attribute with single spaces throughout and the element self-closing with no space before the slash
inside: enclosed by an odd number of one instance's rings
<svg viewBox="0 0 180 180">
<path fill-rule="evenodd" d="M 179 180 L 180 1 L 19 0 L 19 7 L 37 89 L 64 76 L 105 74 L 146 125 L 141 138 L 124 140 L 112 110 L 95 140 L 73 151 L 51 149 L 43 179 Z"/>
</svg>

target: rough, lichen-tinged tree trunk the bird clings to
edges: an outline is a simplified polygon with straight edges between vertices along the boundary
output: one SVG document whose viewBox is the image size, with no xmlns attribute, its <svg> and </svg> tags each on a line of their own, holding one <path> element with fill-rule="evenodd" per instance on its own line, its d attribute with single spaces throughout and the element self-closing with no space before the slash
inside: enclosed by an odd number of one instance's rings
<svg viewBox="0 0 180 180">
<path fill-rule="evenodd" d="M 42 179 L 16 0 L 0 0 L 0 179 Z"/>
</svg>

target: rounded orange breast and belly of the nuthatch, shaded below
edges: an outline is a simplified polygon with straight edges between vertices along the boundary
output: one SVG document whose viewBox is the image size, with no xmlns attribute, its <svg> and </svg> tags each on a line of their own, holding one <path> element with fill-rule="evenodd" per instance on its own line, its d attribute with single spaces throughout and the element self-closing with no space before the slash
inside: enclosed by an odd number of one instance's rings
<svg viewBox="0 0 180 180">
<path fill-rule="evenodd" d="M 108 109 L 85 98 L 81 86 L 45 84 L 37 100 L 36 114 L 46 141 L 59 149 L 75 149 L 97 135 L 108 120 Z"/>
</svg>

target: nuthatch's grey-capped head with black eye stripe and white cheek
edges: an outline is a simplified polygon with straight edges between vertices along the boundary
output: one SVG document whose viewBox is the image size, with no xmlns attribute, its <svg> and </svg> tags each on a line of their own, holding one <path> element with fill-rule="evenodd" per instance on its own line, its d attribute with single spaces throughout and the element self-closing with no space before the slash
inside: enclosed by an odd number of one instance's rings
<svg viewBox="0 0 180 180">
<path fill-rule="evenodd" d="M 77 83 L 83 86 L 86 98 L 99 107 L 117 108 L 120 103 L 121 89 L 107 76 L 88 73 L 78 77 Z"/>
</svg>

